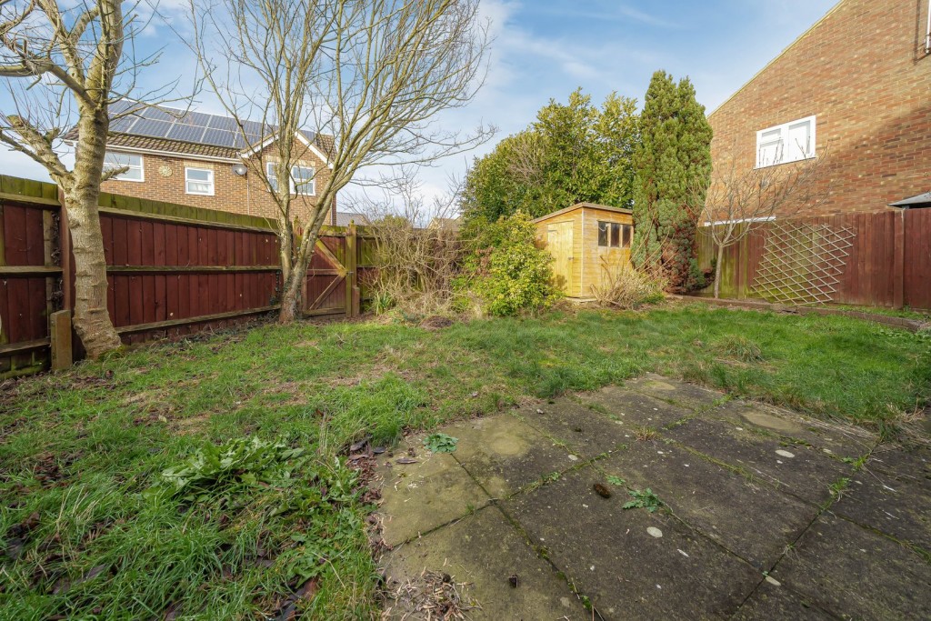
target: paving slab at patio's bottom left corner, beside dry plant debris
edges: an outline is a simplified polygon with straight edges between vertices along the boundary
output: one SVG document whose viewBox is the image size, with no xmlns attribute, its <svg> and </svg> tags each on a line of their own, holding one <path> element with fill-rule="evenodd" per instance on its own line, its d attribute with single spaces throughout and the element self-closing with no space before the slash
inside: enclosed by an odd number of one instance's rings
<svg viewBox="0 0 931 621">
<path fill-rule="evenodd" d="M 462 594 L 479 606 L 466 611 L 469 619 L 590 618 L 565 580 L 536 556 L 494 506 L 398 547 L 383 562 L 389 593 L 407 580 L 416 583 L 425 570 L 467 583 Z M 512 575 L 517 576 L 517 587 L 511 586 Z M 387 607 L 393 619 L 411 612 L 399 602 L 389 602 Z"/>
</svg>

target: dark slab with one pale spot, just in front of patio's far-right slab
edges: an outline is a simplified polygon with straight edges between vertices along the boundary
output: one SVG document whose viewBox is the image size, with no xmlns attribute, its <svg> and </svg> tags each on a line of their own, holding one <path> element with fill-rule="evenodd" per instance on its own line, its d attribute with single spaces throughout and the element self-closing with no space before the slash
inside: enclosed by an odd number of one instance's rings
<svg viewBox="0 0 931 621">
<path fill-rule="evenodd" d="M 853 469 L 813 447 L 786 443 L 729 422 L 696 418 L 663 435 L 816 504 L 829 500 L 830 485 Z"/>
</svg>

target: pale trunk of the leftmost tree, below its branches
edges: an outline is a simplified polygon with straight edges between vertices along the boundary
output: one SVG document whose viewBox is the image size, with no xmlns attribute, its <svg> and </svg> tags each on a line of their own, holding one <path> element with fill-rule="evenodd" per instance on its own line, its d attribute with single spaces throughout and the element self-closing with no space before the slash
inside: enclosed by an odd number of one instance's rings
<svg viewBox="0 0 931 621">
<path fill-rule="evenodd" d="M 64 192 L 74 248 L 74 330 L 90 358 L 120 346 L 107 312 L 107 268 L 103 255 L 97 191 L 90 184 Z"/>
</svg>

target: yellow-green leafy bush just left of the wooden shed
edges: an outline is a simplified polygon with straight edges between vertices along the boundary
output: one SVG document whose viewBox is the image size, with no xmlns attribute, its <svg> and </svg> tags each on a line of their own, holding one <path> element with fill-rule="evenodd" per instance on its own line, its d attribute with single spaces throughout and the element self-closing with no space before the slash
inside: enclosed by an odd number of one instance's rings
<svg viewBox="0 0 931 621">
<path fill-rule="evenodd" d="M 527 214 L 518 211 L 495 223 L 477 219 L 464 238 L 470 241 L 457 280 L 460 308 L 506 317 L 543 310 L 559 299 L 553 259 L 534 244 L 536 226 Z"/>
</svg>

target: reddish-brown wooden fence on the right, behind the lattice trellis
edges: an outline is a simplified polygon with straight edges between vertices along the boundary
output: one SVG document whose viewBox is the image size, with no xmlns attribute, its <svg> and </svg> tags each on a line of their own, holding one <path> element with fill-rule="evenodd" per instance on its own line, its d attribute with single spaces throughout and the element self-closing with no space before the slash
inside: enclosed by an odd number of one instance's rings
<svg viewBox="0 0 931 621">
<path fill-rule="evenodd" d="M 833 302 L 931 308 L 931 209 L 890 209 L 799 220 L 848 227 L 856 234 Z M 724 250 L 722 298 L 751 297 L 749 290 L 763 257 L 769 226 L 762 224 Z M 716 255 L 708 229 L 699 228 L 699 266 L 710 268 Z"/>
</svg>

